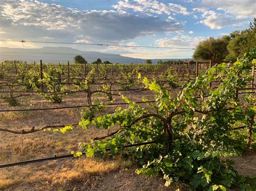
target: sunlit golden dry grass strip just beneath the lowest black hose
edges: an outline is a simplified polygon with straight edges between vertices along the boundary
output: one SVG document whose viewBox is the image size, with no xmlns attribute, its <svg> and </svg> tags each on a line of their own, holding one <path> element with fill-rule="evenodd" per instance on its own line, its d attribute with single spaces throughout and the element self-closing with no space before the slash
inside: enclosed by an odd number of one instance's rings
<svg viewBox="0 0 256 191">
<path fill-rule="evenodd" d="M 41 165 L 10 167 L 1 170 L 1 189 L 17 188 L 41 182 L 41 187 L 59 187 L 86 180 L 90 176 L 116 172 L 131 166 L 130 161 L 79 158 L 73 160 L 50 161 Z"/>
</svg>

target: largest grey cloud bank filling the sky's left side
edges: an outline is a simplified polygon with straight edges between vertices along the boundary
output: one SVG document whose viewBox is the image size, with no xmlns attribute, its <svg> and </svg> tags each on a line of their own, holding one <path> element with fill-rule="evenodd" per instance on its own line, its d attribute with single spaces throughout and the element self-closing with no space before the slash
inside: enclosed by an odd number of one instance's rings
<svg viewBox="0 0 256 191">
<path fill-rule="evenodd" d="M 3 2 L 0 6 L 2 38 L 55 41 L 120 41 L 184 29 L 175 20 L 139 17 L 117 11 L 79 11 L 41 2 Z"/>
</svg>

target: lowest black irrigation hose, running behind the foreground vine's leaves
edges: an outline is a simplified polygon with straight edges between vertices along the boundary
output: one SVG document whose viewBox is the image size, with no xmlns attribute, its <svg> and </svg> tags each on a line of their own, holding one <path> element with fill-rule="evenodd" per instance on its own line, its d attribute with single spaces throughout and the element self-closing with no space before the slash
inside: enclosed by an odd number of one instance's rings
<svg viewBox="0 0 256 191">
<path fill-rule="evenodd" d="M 137 144 L 132 144 L 132 145 L 125 145 L 125 146 L 119 146 L 117 148 L 129 148 L 129 147 L 134 147 L 134 146 L 142 146 L 142 145 L 149 145 L 149 144 L 153 144 L 155 143 L 154 141 L 152 142 L 144 142 L 144 143 L 137 143 Z M 106 148 L 106 151 L 109 151 L 110 148 Z M 83 155 L 85 155 L 85 153 L 83 153 Z M 54 157 L 47 157 L 47 158 L 41 158 L 41 159 L 34 159 L 34 160 L 25 160 L 25 161 L 21 161 L 21 162 L 12 162 L 9 164 L 4 164 L 4 165 L 0 165 L 0 168 L 6 168 L 6 167 L 10 167 L 10 166 L 18 166 L 18 165 L 25 165 L 25 164 L 30 164 L 30 163 L 35 163 L 35 162 L 43 162 L 43 161 L 47 161 L 47 160 L 56 160 L 56 159 L 64 159 L 64 158 L 71 158 L 74 157 L 73 154 L 64 154 L 64 155 L 59 155 L 59 156 L 54 156 Z"/>
</svg>

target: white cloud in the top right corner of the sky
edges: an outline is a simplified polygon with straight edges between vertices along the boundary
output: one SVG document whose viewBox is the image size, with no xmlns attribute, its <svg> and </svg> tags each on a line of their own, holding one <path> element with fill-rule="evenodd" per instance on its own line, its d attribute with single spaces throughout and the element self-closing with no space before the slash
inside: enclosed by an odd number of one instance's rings
<svg viewBox="0 0 256 191">
<path fill-rule="evenodd" d="M 204 8 L 225 10 L 238 18 L 256 17 L 255 0 L 202 0 L 201 6 Z"/>
</svg>

